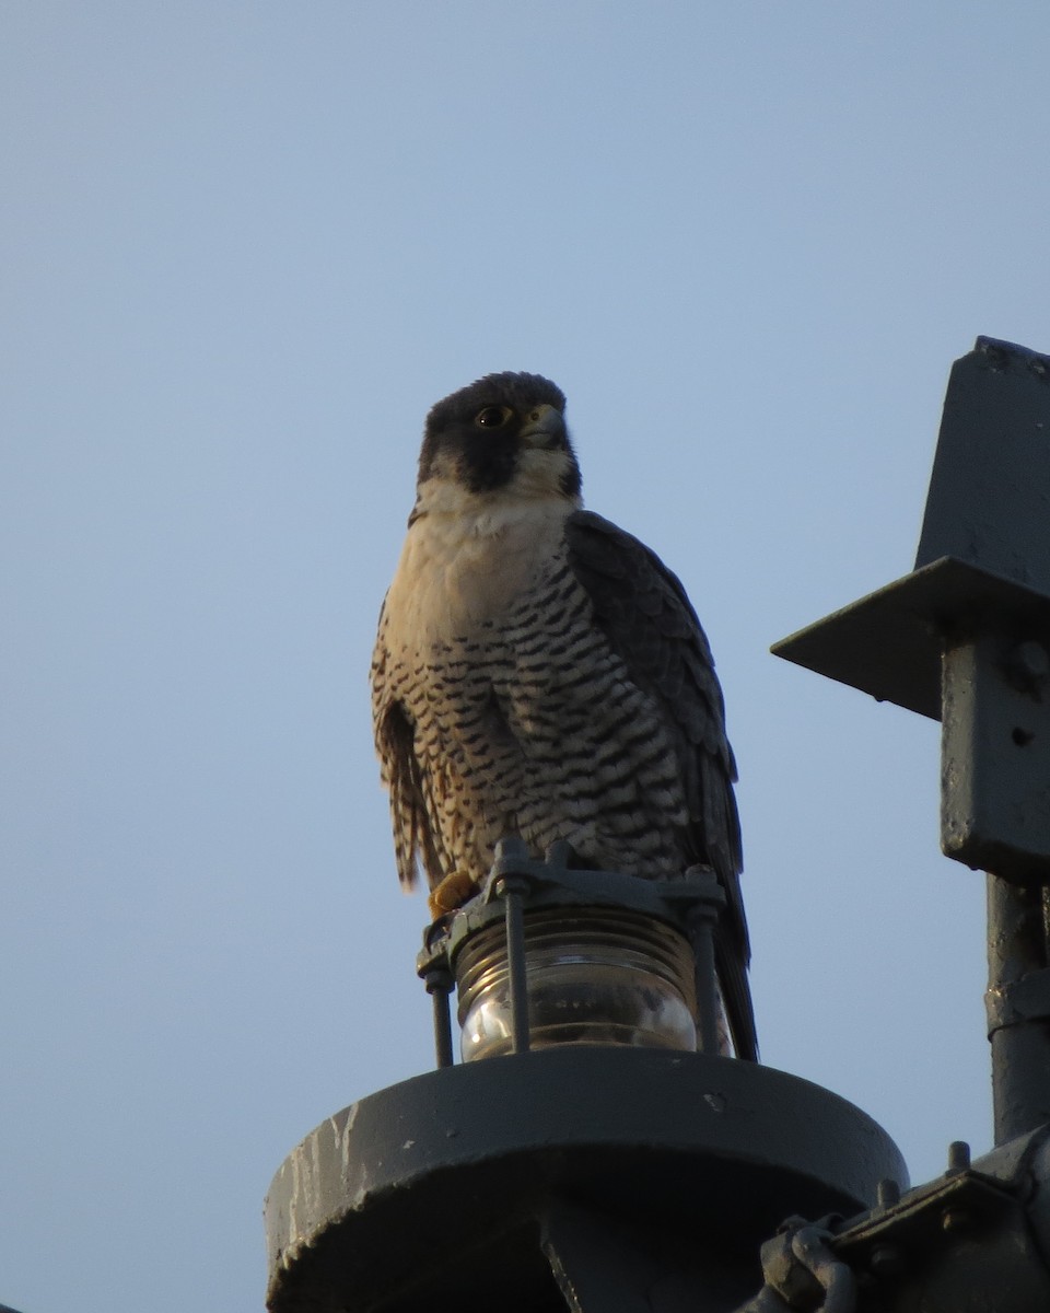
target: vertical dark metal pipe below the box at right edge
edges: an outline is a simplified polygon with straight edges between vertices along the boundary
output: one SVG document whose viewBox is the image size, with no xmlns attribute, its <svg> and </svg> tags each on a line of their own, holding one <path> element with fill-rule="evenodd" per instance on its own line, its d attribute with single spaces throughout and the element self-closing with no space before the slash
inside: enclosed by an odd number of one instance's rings
<svg viewBox="0 0 1050 1313">
<path fill-rule="evenodd" d="M 995 1142 L 1050 1121 L 1050 1024 L 1026 1018 L 1011 993 L 1046 969 L 1042 889 L 988 876 L 988 1040 Z"/>
</svg>

